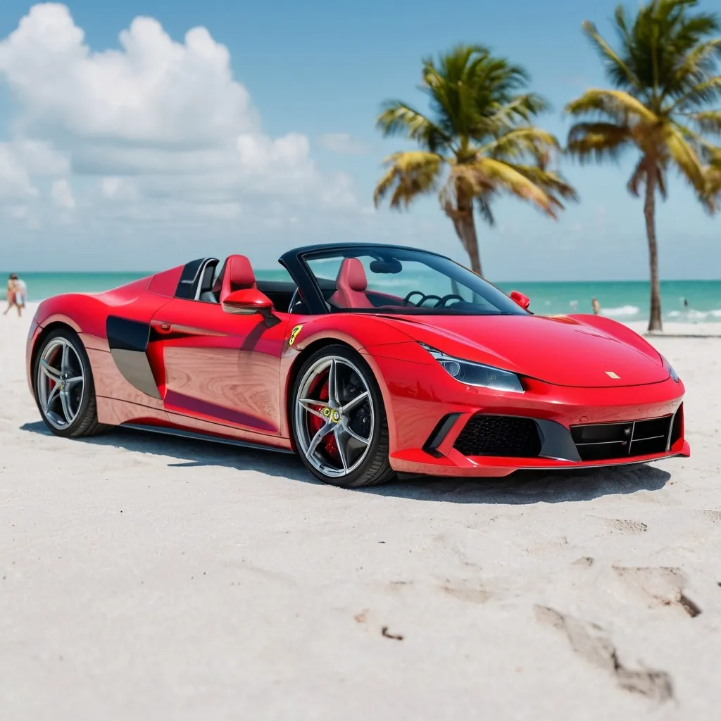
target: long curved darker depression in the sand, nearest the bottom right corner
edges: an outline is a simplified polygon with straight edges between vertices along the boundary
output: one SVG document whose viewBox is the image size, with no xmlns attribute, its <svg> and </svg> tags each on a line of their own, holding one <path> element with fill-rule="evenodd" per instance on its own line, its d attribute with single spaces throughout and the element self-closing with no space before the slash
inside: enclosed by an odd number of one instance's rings
<svg viewBox="0 0 721 721">
<path fill-rule="evenodd" d="M 660 702 L 673 698 L 673 679 L 670 674 L 653 668 L 626 668 L 619 660 L 614 643 L 598 624 L 562 614 L 548 606 L 536 606 L 535 610 L 537 621 L 565 633 L 575 653 L 614 676 L 616 683 L 625 691 Z"/>
</svg>

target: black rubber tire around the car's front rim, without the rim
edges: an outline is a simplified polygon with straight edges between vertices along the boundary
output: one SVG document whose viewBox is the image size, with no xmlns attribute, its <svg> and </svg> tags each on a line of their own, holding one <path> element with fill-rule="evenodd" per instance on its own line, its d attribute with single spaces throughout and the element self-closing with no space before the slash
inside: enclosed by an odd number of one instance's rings
<svg viewBox="0 0 721 721">
<path fill-rule="evenodd" d="M 368 451 L 361 461 L 361 464 L 343 476 L 329 476 L 317 469 L 306 458 L 303 452 L 303 442 L 301 440 L 298 428 L 296 428 L 296 405 L 298 404 L 298 392 L 301 389 L 301 383 L 308 373 L 319 361 L 325 358 L 336 357 L 345 358 L 358 371 L 368 389 L 368 399 L 373 410 L 373 433 L 371 434 L 370 443 L 368 443 Z M 296 444 L 298 455 L 301 457 L 306 468 L 318 479 L 329 485 L 340 486 L 342 488 L 359 488 L 362 486 L 373 486 L 386 483 L 394 477 L 394 471 L 389 462 L 389 438 L 388 438 L 388 420 L 386 417 L 386 409 L 381 397 L 381 391 L 371 368 L 368 367 L 366 361 L 361 355 L 356 353 L 346 345 L 327 345 L 321 348 L 313 355 L 309 356 L 301 366 L 300 371 L 293 383 L 293 391 L 291 393 L 291 406 L 289 408 L 289 417 L 291 420 L 291 429 L 293 433 L 293 441 Z M 345 466 L 344 466 L 345 467 Z"/>
</svg>

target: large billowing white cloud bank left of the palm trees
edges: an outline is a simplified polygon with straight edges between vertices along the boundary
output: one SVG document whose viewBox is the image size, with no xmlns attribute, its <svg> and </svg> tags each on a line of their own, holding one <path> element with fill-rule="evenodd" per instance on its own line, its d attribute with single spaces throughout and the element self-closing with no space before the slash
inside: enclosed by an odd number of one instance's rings
<svg viewBox="0 0 721 721">
<path fill-rule="evenodd" d="M 0 39 L 0 79 L 14 101 L 0 198 L 37 198 L 33 178 L 46 176 L 52 203 L 100 217 L 231 219 L 263 212 L 264 197 L 284 198 L 277 212 L 291 216 L 329 202 L 358 210 L 349 179 L 320 172 L 306 136 L 262 133 L 228 49 L 204 27 L 177 42 L 136 17 L 119 49 L 98 52 L 65 5 L 37 4 Z M 98 182 L 76 184 L 89 193 L 76 202 L 70 182 L 83 175 Z"/>
</svg>

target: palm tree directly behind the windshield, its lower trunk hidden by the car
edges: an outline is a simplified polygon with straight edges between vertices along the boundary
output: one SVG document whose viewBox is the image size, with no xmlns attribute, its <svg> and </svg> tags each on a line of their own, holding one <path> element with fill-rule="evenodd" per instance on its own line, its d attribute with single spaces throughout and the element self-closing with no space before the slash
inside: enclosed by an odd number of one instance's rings
<svg viewBox="0 0 721 721">
<path fill-rule="evenodd" d="M 547 104 L 521 92 L 528 82 L 523 68 L 479 45 L 459 45 L 437 65 L 425 59 L 422 78 L 430 114 L 392 100 L 376 121 L 384 136 L 405 136 L 421 149 L 386 158 L 388 170 L 373 200 L 377 208 L 391 193 L 391 208 L 400 210 L 419 195 L 440 190 L 441 208 L 481 275 L 474 206 L 493 225 L 493 198 L 510 193 L 555 218 L 563 207 L 559 198 L 575 198 L 575 193 L 548 167 L 559 143 L 530 123 Z"/>
</svg>

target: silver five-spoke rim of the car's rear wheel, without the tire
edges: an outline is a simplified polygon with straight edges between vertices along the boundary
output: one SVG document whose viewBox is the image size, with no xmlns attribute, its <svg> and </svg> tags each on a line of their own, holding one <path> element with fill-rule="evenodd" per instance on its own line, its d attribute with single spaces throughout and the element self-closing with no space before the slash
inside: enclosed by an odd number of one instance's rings
<svg viewBox="0 0 721 721">
<path fill-rule="evenodd" d="M 37 364 L 37 400 L 45 420 L 58 430 L 72 425 L 83 402 L 85 376 L 80 356 L 63 337 L 53 338 Z"/>
</svg>

